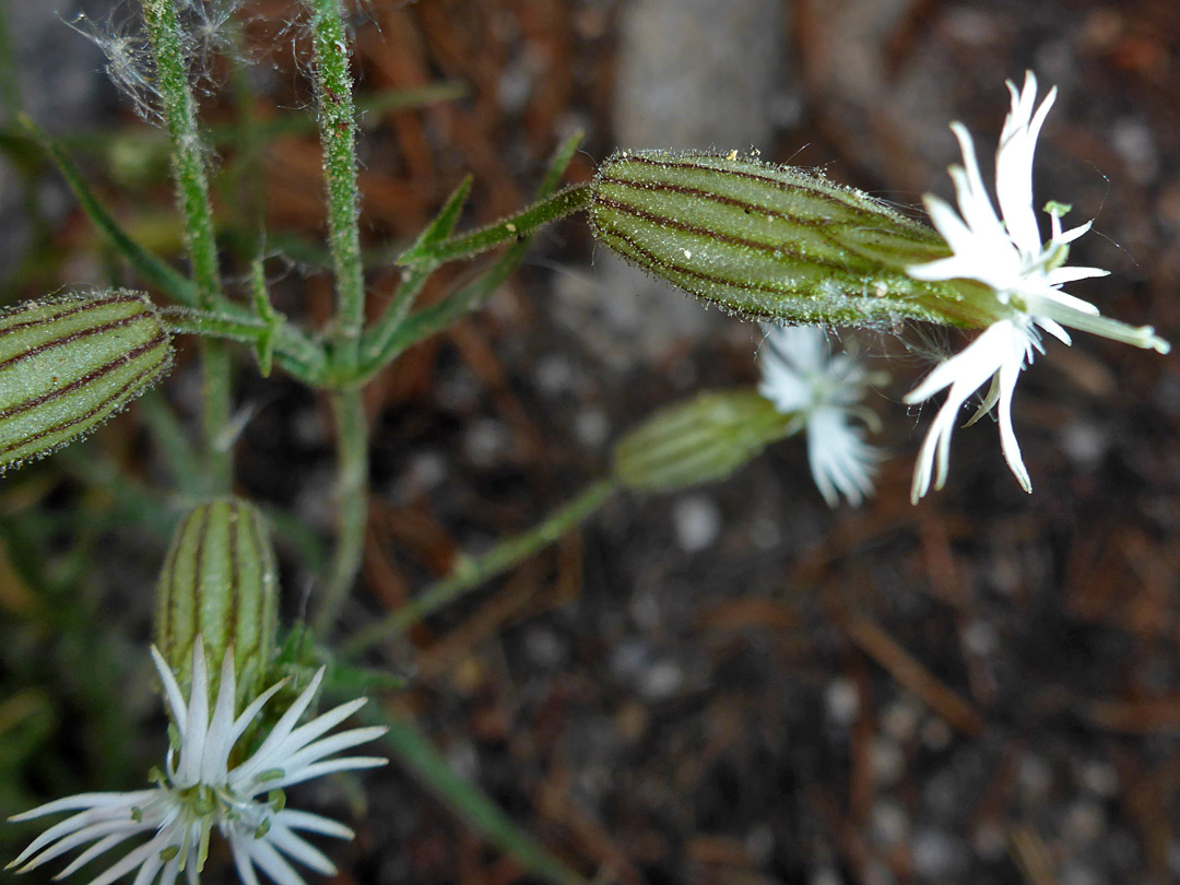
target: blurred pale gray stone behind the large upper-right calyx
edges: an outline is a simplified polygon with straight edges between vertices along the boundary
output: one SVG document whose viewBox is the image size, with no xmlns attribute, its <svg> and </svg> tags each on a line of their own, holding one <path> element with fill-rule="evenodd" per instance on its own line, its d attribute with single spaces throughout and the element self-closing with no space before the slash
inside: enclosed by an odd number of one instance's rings
<svg viewBox="0 0 1180 885">
<path fill-rule="evenodd" d="M 615 137 L 620 146 L 769 150 L 788 46 L 780 0 L 637 0 L 620 21 Z M 658 359 L 723 315 L 598 249 L 596 286 L 576 310 L 615 345 L 616 368 Z M 585 323 L 579 322 L 585 332 Z M 621 358 L 621 359 L 620 359 Z"/>
</svg>

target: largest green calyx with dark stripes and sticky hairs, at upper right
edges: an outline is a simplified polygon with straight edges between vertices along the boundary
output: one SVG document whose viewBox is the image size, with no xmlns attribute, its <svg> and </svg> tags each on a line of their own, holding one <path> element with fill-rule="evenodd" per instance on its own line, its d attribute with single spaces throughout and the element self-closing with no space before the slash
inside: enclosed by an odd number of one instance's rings
<svg viewBox="0 0 1180 885">
<path fill-rule="evenodd" d="M 595 176 L 588 211 L 595 236 L 627 261 L 746 319 L 995 319 L 990 290 L 906 275 L 950 255 L 931 228 L 821 175 L 736 151 L 615 153 Z"/>
</svg>

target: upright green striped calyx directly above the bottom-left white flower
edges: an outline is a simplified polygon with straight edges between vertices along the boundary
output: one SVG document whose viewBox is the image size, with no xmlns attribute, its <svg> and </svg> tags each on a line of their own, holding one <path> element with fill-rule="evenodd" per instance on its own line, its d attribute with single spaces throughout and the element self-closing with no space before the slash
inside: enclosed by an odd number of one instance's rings
<svg viewBox="0 0 1180 885">
<path fill-rule="evenodd" d="M 234 649 L 238 700 L 258 693 L 275 656 L 278 573 L 262 514 L 241 498 L 218 498 L 181 519 L 159 575 L 156 645 L 186 688 L 192 647 L 204 642 L 211 686 Z"/>
</svg>

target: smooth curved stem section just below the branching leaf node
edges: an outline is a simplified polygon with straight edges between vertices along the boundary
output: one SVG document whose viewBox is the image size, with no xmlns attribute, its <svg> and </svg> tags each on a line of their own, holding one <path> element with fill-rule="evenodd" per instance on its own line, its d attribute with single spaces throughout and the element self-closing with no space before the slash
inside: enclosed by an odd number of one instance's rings
<svg viewBox="0 0 1180 885">
<path fill-rule="evenodd" d="M 336 621 L 341 605 L 356 581 L 365 551 L 368 518 L 368 427 L 360 388 L 336 391 L 332 395 L 336 422 L 336 549 L 320 609 L 312 622 L 316 636 L 324 637 Z"/>
</svg>

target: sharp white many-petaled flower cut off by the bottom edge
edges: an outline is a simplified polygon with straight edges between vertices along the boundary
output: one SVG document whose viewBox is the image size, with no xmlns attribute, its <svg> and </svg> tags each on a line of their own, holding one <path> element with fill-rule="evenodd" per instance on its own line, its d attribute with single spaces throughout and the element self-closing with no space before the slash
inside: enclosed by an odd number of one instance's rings
<svg viewBox="0 0 1180 885">
<path fill-rule="evenodd" d="M 243 885 L 257 885 L 255 866 L 277 885 L 303 885 L 287 858 L 317 873 L 335 872 L 332 861 L 296 831 L 340 839 L 352 839 L 352 831 L 328 818 L 284 808 L 281 791 L 329 772 L 385 765 L 387 760 L 374 756 L 329 756 L 372 741 L 386 729 L 353 728 L 323 736 L 355 713 L 365 699 L 343 703 L 296 728 L 323 680 L 321 668 L 254 754 L 230 768 L 235 743 L 286 680 L 263 691 L 235 717 L 231 649 L 222 664 L 221 689 L 210 716 L 203 648 L 198 640 L 188 703 L 159 651 L 151 650 L 176 727 L 175 746 L 168 750 L 165 772 L 157 775 L 157 786 L 131 793 L 81 793 L 9 818 L 18 821 L 77 812 L 41 833 L 9 867 L 22 865 L 18 872 L 25 872 L 93 843 L 58 873 L 55 878 L 60 879 L 127 839 L 144 834 L 149 837 L 146 841 L 90 885 L 106 885 L 132 870 L 138 871 L 133 885 L 151 885 L 157 877 L 162 885 L 172 885 L 181 872 L 189 883 L 196 883 L 209 852 L 209 837 L 217 828 L 229 843 Z"/>
</svg>

